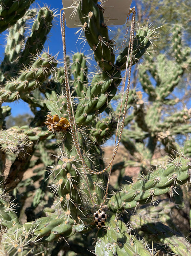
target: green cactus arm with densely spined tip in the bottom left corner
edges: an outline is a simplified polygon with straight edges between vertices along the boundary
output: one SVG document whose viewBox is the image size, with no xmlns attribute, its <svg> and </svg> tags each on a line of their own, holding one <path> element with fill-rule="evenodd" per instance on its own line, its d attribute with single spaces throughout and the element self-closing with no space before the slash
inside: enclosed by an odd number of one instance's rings
<svg viewBox="0 0 191 256">
<path fill-rule="evenodd" d="M 25 223 L 23 227 L 9 228 L 6 239 L 3 237 L 1 241 L 1 248 L 3 247 L 4 251 L 9 251 L 9 255 L 16 253 L 24 256 L 35 251 L 35 247 L 38 245 L 37 241 L 48 243 L 55 238 L 72 235 L 74 222 L 66 220 L 63 216 L 61 215 L 57 219 L 58 216 L 42 217 L 37 221 Z M 14 246 L 15 244 L 17 246 Z"/>
</svg>

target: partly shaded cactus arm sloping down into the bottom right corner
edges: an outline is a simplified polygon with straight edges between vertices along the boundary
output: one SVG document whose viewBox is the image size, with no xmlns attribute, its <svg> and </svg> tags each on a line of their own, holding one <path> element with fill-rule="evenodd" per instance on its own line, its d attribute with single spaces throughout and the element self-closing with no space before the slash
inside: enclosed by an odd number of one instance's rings
<svg viewBox="0 0 191 256">
<path fill-rule="evenodd" d="M 176 255 L 191 255 L 191 244 L 175 229 L 169 217 L 175 206 L 175 203 L 161 201 L 158 206 L 140 209 L 130 217 L 131 226 L 149 243 L 165 244 L 165 250 Z"/>
</svg>

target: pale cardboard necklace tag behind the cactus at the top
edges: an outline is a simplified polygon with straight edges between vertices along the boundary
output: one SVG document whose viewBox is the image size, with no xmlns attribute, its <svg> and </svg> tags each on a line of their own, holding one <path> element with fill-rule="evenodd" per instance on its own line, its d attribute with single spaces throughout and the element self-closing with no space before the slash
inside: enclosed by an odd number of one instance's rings
<svg viewBox="0 0 191 256">
<path fill-rule="evenodd" d="M 76 0 L 62 0 L 65 10 L 66 25 L 69 28 L 79 27 L 81 25 L 78 13 L 74 13 Z M 106 25 L 123 25 L 129 13 L 132 0 L 100 0 L 101 7 L 104 8 L 104 22 Z M 71 7 L 72 6 L 72 7 Z"/>
</svg>

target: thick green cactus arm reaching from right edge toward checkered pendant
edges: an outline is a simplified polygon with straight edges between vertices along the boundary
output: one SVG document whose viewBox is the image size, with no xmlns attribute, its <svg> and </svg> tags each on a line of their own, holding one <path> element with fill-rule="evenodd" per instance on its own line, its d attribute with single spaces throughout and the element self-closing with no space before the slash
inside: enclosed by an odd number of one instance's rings
<svg viewBox="0 0 191 256">
<path fill-rule="evenodd" d="M 154 202 L 154 197 L 171 191 L 171 185 L 184 184 L 190 178 L 190 159 L 177 157 L 169 164 L 159 168 L 152 174 L 147 174 L 143 180 L 124 187 L 124 191 L 114 194 L 109 199 L 108 206 L 113 210 L 129 209 L 137 204 Z"/>
</svg>

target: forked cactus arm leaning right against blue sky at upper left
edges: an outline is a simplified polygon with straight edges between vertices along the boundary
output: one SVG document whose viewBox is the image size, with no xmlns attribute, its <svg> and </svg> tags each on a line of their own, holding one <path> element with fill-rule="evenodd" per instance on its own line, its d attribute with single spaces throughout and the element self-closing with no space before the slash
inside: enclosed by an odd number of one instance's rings
<svg viewBox="0 0 191 256">
<path fill-rule="evenodd" d="M 17 1 L 15 1 L 16 3 Z M 41 8 L 32 26 L 32 33 L 24 42 L 24 32 L 26 31 L 25 22 L 27 19 L 34 17 L 35 10 L 29 10 L 24 18 L 19 20 L 17 24 L 9 31 L 7 45 L 5 48 L 5 57 L 1 63 L 1 81 L 3 74 L 7 79 L 11 79 L 18 75 L 18 69 L 29 65 L 34 59 L 34 55 L 43 49 L 43 44 L 47 39 L 47 34 L 52 27 L 54 14 L 47 7 Z M 13 38 L 15 40 L 13 40 Z M 22 50 L 24 48 L 24 50 Z M 5 80 L 5 79 L 4 79 Z"/>
</svg>

